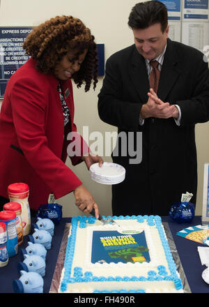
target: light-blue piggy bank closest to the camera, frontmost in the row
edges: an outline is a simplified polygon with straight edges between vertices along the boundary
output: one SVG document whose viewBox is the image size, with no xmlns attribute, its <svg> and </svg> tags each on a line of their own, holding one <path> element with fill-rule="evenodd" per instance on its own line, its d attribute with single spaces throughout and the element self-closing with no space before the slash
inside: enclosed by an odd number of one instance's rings
<svg viewBox="0 0 209 307">
<path fill-rule="evenodd" d="M 42 293 L 43 279 L 36 272 L 20 271 L 20 278 L 13 280 L 15 293 Z"/>
</svg>

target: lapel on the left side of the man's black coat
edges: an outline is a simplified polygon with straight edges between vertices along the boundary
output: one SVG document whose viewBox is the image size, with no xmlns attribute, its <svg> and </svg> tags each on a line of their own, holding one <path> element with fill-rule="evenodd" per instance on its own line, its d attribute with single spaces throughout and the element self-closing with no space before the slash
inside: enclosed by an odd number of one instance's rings
<svg viewBox="0 0 209 307">
<path fill-rule="evenodd" d="M 146 63 L 144 57 L 142 57 L 134 46 L 132 60 L 129 65 L 129 75 L 134 84 L 137 93 L 141 98 L 141 103 L 146 103 L 148 100 L 148 73 L 146 69 Z"/>
</svg>

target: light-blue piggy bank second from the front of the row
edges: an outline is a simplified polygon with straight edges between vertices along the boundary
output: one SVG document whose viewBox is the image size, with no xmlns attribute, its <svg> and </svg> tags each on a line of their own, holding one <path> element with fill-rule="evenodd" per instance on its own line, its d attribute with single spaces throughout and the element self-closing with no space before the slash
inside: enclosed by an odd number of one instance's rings
<svg viewBox="0 0 209 307">
<path fill-rule="evenodd" d="M 17 264 L 18 271 L 36 272 L 40 276 L 45 276 L 45 260 L 38 255 L 24 255 L 24 262 Z"/>
</svg>

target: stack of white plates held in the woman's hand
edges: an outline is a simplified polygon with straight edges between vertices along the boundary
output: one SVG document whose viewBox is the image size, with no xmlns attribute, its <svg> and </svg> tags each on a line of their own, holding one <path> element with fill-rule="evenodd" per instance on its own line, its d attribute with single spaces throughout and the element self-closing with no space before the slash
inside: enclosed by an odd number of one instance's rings
<svg viewBox="0 0 209 307">
<path fill-rule="evenodd" d="M 91 179 L 99 184 L 120 184 L 125 179 L 125 168 L 111 162 L 104 162 L 102 167 L 95 163 L 89 172 Z"/>
</svg>

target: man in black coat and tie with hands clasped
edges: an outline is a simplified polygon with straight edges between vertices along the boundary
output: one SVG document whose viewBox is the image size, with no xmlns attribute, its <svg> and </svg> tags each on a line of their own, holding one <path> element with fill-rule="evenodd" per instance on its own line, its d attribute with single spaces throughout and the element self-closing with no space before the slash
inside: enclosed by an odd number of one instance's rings
<svg viewBox="0 0 209 307">
<path fill-rule="evenodd" d="M 168 38 L 160 1 L 137 3 L 128 25 L 134 45 L 107 60 L 98 96 L 100 119 L 118 127 L 113 161 L 126 169 L 125 181 L 112 186 L 113 215 L 167 216 L 182 193 L 193 193 L 196 203 L 194 129 L 209 119 L 208 63 L 198 50 Z M 134 163 L 129 149 L 139 150 L 140 133 L 142 157 Z"/>
</svg>

